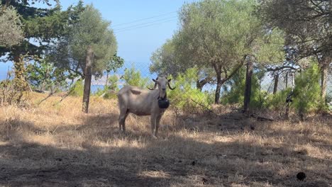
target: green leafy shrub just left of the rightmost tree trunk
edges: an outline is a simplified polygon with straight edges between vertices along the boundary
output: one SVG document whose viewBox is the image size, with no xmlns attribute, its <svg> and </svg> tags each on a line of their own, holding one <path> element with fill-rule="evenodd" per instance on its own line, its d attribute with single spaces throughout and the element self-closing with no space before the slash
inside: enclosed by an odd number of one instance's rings
<svg viewBox="0 0 332 187">
<path fill-rule="evenodd" d="M 294 108 L 301 118 L 311 112 L 319 111 L 323 105 L 320 91 L 319 65 L 313 63 L 295 78 Z"/>
</svg>

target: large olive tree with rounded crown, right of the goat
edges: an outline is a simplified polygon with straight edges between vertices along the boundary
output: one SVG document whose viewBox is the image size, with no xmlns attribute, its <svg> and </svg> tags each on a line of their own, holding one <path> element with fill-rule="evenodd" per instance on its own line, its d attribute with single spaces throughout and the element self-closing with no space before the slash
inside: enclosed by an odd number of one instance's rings
<svg viewBox="0 0 332 187">
<path fill-rule="evenodd" d="M 184 4 L 179 13 L 175 51 L 181 52 L 180 62 L 214 69 L 215 103 L 219 103 L 223 83 L 242 67 L 262 34 L 260 21 L 253 16 L 254 6 L 254 1 L 206 0 Z"/>
</svg>

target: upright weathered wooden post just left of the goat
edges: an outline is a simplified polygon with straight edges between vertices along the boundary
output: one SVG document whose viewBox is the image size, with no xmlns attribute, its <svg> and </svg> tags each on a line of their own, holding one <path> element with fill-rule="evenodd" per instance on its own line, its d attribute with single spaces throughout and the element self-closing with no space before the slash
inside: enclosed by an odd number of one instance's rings
<svg viewBox="0 0 332 187">
<path fill-rule="evenodd" d="M 89 45 L 87 48 L 87 60 L 84 69 L 84 92 L 83 92 L 83 106 L 82 111 L 84 113 L 89 112 L 89 100 L 90 100 L 90 89 L 91 89 L 91 78 L 92 78 L 92 61 L 93 61 L 93 51 L 92 47 Z"/>
</svg>

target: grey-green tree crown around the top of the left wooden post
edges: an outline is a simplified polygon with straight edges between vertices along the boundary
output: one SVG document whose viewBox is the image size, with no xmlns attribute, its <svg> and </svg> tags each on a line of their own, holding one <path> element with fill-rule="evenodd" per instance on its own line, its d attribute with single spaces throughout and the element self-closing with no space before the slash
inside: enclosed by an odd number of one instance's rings
<svg viewBox="0 0 332 187">
<path fill-rule="evenodd" d="M 79 14 L 78 21 L 68 28 L 67 35 L 53 46 L 50 55 L 55 65 L 84 79 L 87 47 L 91 45 L 94 52 L 92 74 L 101 77 L 108 67 L 112 67 L 112 59 L 116 54 L 116 38 L 109 28 L 110 24 L 102 19 L 94 6 L 86 6 Z"/>
</svg>

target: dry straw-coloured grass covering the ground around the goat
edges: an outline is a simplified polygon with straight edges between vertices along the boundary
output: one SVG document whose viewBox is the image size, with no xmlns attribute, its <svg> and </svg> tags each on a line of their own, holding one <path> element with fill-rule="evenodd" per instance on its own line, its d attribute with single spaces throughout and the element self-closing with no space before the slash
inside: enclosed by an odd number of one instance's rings
<svg viewBox="0 0 332 187">
<path fill-rule="evenodd" d="M 84 115 L 81 98 L 59 99 L 0 108 L 0 186 L 332 185 L 331 116 L 267 123 L 226 108 L 215 108 L 220 118 L 167 111 L 153 140 L 148 117 L 130 115 L 128 135 L 118 133 L 116 101 L 92 98 Z"/>
</svg>

